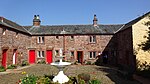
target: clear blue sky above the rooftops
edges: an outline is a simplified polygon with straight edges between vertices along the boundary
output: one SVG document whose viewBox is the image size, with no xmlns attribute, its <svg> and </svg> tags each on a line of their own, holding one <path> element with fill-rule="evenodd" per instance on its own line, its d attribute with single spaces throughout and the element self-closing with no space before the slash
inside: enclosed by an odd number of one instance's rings
<svg viewBox="0 0 150 84">
<path fill-rule="evenodd" d="M 150 0 L 0 0 L 0 16 L 20 25 L 125 24 L 150 11 Z"/>
</svg>

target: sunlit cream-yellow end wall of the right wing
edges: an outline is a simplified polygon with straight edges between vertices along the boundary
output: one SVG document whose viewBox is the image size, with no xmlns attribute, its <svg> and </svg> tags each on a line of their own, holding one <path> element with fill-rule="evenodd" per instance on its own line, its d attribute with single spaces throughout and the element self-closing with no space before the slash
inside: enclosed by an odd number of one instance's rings
<svg viewBox="0 0 150 84">
<path fill-rule="evenodd" d="M 138 45 L 145 42 L 147 39 L 145 36 L 148 35 L 148 27 L 144 25 L 149 19 L 147 17 L 143 18 L 139 22 L 133 25 L 133 48 L 135 50 L 136 59 L 140 63 L 147 62 L 150 63 L 150 53 L 148 51 L 143 51 Z"/>
</svg>

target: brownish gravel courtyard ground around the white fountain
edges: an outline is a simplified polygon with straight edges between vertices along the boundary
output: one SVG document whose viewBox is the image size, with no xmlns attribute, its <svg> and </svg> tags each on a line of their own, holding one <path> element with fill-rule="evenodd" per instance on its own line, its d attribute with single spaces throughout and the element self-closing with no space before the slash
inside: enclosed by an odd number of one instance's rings
<svg viewBox="0 0 150 84">
<path fill-rule="evenodd" d="M 20 68 L 16 70 L 9 70 L 7 74 L 0 72 L 0 84 L 16 84 L 16 82 L 26 76 L 21 74 L 25 71 L 27 74 L 34 74 L 37 76 L 43 76 L 58 73 L 58 69 L 54 66 L 46 64 L 35 64 L 31 67 Z M 127 80 L 116 75 L 116 71 L 109 67 L 95 66 L 95 65 L 71 65 L 64 69 L 64 72 L 68 76 L 77 76 L 80 73 L 89 73 L 92 78 L 99 79 L 102 84 L 139 84 L 135 80 Z"/>
</svg>

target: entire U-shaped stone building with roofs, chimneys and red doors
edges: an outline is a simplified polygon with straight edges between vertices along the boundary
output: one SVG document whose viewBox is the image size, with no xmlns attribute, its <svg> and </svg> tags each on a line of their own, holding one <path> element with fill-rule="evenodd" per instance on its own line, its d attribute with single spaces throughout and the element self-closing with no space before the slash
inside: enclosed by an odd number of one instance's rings
<svg viewBox="0 0 150 84">
<path fill-rule="evenodd" d="M 145 21 L 148 14 L 127 24 L 113 25 L 98 24 L 96 15 L 93 24 L 89 25 L 51 26 L 41 25 L 39 15 L 34 16 L 31 26 L 20 26 L 0 17 L 1 65 L 7 67 L 23 60 L 30 64 L 38 61 L 51 63 L 58 60 L 59 50 L 63 49 L 66 61 L 84 64 L 95 62 L 98 58 L 102 61 L 107 56 L 109 64 L 135 67 L 136 57 L 139 57 L 133 53 L 138 41 L 135 31 L 141 30 L 143 24 L 140 21 Z"/>
</svg>

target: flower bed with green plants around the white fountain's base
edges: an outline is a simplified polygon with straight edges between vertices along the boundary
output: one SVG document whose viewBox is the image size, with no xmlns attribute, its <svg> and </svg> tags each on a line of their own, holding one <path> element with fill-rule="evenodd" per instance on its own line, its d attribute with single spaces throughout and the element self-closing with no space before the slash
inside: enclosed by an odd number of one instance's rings
<svg viewBox="0 0 150 84">
<path fill-rule="evenodd" d="M 20 79 L 18 84 L 59 84 L 58 82 L 53 82 L 53 75 L 45 76 L 35 76 L 35 75 L 26 75 L 26 77 Z M 78 77 L 69 77 L 69 81 L 64 84 L 101 84 L 97 79 L 91 79 L 90 75 L 87 73 L 79 74 Z"/>
</svg>

